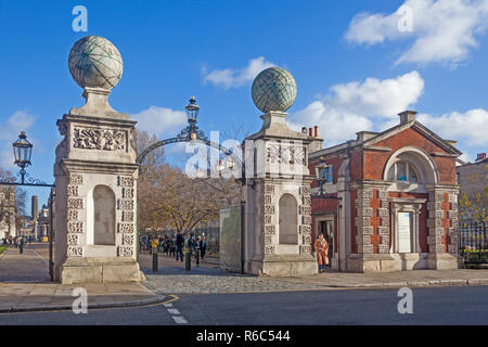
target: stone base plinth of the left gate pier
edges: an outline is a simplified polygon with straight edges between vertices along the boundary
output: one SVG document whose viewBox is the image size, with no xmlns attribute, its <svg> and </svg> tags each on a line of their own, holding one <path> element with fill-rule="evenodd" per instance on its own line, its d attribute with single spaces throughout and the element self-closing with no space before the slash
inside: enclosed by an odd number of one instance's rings
<svg viewBox="0 0 488 347">
<path fill-rule="evenodd" d="M 144 281 L 144 274 L 132 259 L 72 258 L 60 267 L 57 281 L 62 284 L 140 283 Z"/>
</svg>

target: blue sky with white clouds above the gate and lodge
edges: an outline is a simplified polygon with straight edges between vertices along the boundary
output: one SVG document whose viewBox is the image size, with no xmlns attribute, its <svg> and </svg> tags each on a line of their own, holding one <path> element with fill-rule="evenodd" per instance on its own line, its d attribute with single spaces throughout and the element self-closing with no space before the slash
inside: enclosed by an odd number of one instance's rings
<svg viewBox="0 0 488 347">
<path fill-rule="evenodd" d="M 78 4 L 88 10 L 87 33 L 72 29 Z M 402 5 L 410 17 L 396 13 Z M 400 31 L 406 18 L 411 30 Z M 488 0 L 0 0 L 0 165 L 16 171 L 11 142 L 26 130 L 35 144 L 28 171 L 53 181 L 55 121 L 84 104 L 67 56 L 87 35 L 123 55 L 112 106 L 160 138 L 184 126 L 190 95 L 207 133 L 257 131 L 252 80 L 278 65 L 298 85 L 290 125 L 319 125 L 326 145 L 395 125 L 409 108 L 474 159 L 488 144 L 487 23 Z M 47 200 L 47 190 L 30 193 Z"/>
</svg>

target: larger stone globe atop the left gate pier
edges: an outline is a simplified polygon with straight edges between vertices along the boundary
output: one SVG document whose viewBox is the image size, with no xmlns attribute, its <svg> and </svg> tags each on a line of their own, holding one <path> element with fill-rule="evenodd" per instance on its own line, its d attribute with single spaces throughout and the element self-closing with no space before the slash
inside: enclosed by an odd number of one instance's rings
<svg viewBox="0 0 488 347">
<path fill-rule="evenodd" d="M 120 52 L 107 39 L 87 36 L 75 42 L 68 57 L 69 73 L 81 88 L 111 90 L 121 78 Z"/>
</svg>

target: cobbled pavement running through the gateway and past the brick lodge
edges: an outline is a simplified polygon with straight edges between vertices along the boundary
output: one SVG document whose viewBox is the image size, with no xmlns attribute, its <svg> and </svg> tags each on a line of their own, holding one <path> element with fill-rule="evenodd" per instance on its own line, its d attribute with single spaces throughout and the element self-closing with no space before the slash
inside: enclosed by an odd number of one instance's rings
<svg viewBox="0 0 488 347">
<path fill-rule="evenodd" d="M 141 254 L 145 285 L 160 294 L 261 293 L 358 287 L 420 287 L 448 285 L 488 285 L 487 270 L 416 270 L 387 273 L 346 273 L 329 271 L 310 277 L 267 278 L 229 273 L 216 264 L 202 262 L 184 271 L 184 262 L 159 256 L 159 271 L 151 270 L 152 258 Z"/>
</svg>

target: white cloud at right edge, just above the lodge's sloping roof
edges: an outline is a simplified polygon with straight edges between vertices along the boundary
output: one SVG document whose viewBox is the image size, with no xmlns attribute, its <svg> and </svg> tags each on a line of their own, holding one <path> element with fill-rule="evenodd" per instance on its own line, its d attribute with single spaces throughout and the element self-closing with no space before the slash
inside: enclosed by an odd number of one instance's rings
<svg viewBox="0 0 488 347">
<path fill-rule="evenodd" d="M 451 112 L 440 117 L 420 114 L 416 119 L 444 139 L 460 140 L 467 146 L 488 145 L 488 111 Z"/>
</svg>

